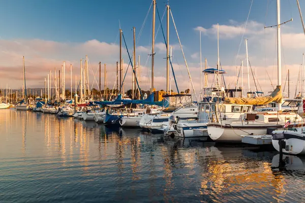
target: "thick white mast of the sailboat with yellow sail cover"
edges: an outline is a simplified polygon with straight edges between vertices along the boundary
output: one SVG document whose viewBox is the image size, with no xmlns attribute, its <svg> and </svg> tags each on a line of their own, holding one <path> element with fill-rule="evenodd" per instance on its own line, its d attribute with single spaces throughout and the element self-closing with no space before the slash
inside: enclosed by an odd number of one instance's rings
<svg viewBox="0 0 305 203">
<path fill-rule="evenodd" d="M 282 85 L 282 61 L 281 61 L 281 8 L 280 0 L 277 0 L 277 44 L 278 44 L 278 86 Z M 282 90 L 281 90 L 282 91 Z M 279 101 L 279 111 L 282 111 L 282 101 Z"/>
</svg>

